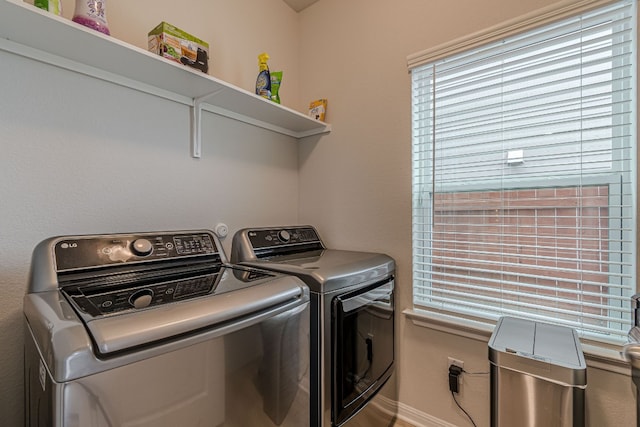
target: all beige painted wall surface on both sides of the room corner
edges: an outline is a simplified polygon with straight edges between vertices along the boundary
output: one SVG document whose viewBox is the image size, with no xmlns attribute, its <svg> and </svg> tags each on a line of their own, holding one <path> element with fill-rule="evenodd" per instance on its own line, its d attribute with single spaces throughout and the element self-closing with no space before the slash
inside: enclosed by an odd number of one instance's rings
<svg viewBox="0 0 640 427">
<path fill-rule="evenodd" d="M 0 52 L 2 425 L 22 424 L 22 296 L 31 250 L 52 235 L 312 223 L 331 246 L 396 258 L 398 308 L 410 307 L 406 56 L 549 3 L 322 0 L 295 14 L 280 0 L 109 0 L 114 37 L 146 48 L 166 20 L 212 44 L 216 77 L 252 91 L 266 50 L 285 71 L 285 105 L 329 98 L 333 132 L 302 144 L 207 114 L 200 160 L 189 157 L 186 107 Z M 73 4 L 64 0 L 67 17 Z M 153 177 L 134 179 L 140 167 Z M 486 370 L 486 343 L 398 323 L 403 408 L 468 425 L 446 359 Z M 488 387 L 482 376 L 463 383 L 479 426 Z M 634 425 L 633 393 L 629 377 L 590 369 L 589 425 Z"/>
</svg>

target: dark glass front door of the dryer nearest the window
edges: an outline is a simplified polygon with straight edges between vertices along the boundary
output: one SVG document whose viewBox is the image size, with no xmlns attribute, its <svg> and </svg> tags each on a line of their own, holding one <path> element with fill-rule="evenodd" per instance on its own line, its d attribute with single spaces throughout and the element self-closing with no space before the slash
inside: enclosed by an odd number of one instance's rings
<svg viewBox="0 0 640 427">
<path fill-rule="evenodd" d="M 333 299 L 333 424 L 355 415 L 393 372 L 393 278 Z"/>
</svg>

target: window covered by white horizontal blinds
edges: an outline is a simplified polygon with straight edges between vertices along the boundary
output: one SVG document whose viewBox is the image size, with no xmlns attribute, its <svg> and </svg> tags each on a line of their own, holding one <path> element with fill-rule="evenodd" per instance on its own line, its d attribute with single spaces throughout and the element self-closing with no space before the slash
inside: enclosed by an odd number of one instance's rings
<svg viewBox="0 0 640 427">
<path fill-rule="evenodd" d="M 416 308 L 626 338 L 635 31 L 619 1 L 410 64 Z"/>
</svg>

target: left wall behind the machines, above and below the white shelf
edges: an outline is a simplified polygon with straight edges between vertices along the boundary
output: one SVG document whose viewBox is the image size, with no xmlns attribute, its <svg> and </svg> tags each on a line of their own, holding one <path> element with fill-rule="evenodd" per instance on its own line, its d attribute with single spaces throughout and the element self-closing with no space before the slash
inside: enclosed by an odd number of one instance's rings
<svg viewBox="0 0 640 427">
<path fill-rule="evenodd" d="M 65 16 L 73 5 L 64 2 Z M 109 0 L 107 17 L 113 37 L 145 49 L 162 20 L 192 32 L 213 47 L 210 73 L 249 91 L 266 50 L 286 70 L 284 104 L 295 104 L 298 20 L 280 0 Z M 0 425 L 19 427 L 22 297 L 35 245 L 54 235 L 295 223 L 298 147 L 204 113 L 202 158 L 192 159 L 188 107 L 4 51 L 0 94 Z"/>
</svg>

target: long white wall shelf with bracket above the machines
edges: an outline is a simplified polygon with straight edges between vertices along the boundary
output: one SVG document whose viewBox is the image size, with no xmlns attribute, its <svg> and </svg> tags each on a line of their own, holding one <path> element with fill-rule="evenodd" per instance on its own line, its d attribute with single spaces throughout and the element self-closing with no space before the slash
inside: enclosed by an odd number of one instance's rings
<svg viewBox="0 0 640 427">
<path fill-rule="evenodd" d="M 0 50 L 189 105 L 193 157 L 201 155 L 201 110 L 298 139 L 331 131 L 327 123 L 21 0 L 0 0 Z"/>
</svg>

